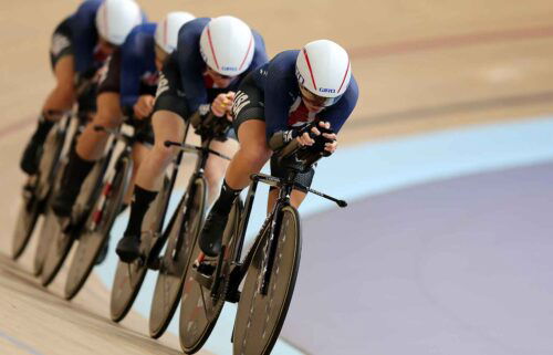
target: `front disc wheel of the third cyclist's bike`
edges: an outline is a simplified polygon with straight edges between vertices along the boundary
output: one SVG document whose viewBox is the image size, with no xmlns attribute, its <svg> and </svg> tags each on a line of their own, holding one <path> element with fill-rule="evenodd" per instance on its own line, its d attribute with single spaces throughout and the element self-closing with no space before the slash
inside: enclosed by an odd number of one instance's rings
<svg viewBox="0 0 553 355">
<path fill-rule="evenodd" d="M 132 173 L 133 160 L 128 155 L 123 155 L 115 165 L 113 179 L 102 187 L 102 196 L 96 199 L 88 213 L 70 265 L 64 292 L 66 300 L 73 299 L 84 285 L 109 238 L 109 231 L 131 184 Z"/>
</svg>

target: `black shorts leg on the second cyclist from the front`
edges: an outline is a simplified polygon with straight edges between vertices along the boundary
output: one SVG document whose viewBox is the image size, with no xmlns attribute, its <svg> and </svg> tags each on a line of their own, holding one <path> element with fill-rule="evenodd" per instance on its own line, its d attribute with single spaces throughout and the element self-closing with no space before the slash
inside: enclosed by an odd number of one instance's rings
<svg viewBox="0 0 553 355">
<path fill-rule="evenodd" d="M 182 119 L 187 119 L 190 115 L 175 53 L 165 62 L 157 84 L 154 113 L 165 109 L 179 115 Z"/>
</svg>

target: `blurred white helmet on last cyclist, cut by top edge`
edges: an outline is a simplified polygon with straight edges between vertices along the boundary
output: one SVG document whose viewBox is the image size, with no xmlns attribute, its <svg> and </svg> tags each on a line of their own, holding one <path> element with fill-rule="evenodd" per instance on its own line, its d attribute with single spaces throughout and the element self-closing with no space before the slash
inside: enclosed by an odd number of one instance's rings
<svg viewBox="0 0 553 355">
<path fill-rule="evenodd" d="M 105 0 L 96 12 L 100 35 L 114 45 L 121 45 L 131 30 L 143 22 L 140 8 L 134 0 Z"/>
</svg>

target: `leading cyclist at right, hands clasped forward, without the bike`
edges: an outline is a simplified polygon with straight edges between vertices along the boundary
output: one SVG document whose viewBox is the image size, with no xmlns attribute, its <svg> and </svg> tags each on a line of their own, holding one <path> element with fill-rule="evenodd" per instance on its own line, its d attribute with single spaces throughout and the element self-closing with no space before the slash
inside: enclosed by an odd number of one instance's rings
<svg viewBox="0 0 553 355">
<path fill-rule="evenodd" d="M 198 261 L 219 253 L 232 202 L 272 152 L 292 139 L 302 146 L 313 145 L 314 139 L 302 126 L 316 119 L 319 128 L 334 132 L 323 133 L 328 140 L 324 149 L 332 154 L 337 146 L 336 133 L 352 114 L 357 96 L 347 52 L 328 40 L 310 42 L 301 51 L 284 51 L 242 81 L 232 107 L 240 149 L 230 161 L 219 198 L 202 227 L 199 240 L 202 254 Z M 312 134 L 321 132 L 313 127 Z M 284 177 L 276 161 L 271 160 L 271 173 Z M 309 186 L 313 175 L 311 169 L 298 179 Z M 276 196 L 278 190 L 272 189 L 269 206 Z M 304 192 L 294 190 L 291 203 L 298 208 L 304 198 Z"/>
</svg>

